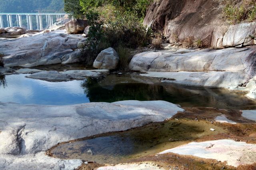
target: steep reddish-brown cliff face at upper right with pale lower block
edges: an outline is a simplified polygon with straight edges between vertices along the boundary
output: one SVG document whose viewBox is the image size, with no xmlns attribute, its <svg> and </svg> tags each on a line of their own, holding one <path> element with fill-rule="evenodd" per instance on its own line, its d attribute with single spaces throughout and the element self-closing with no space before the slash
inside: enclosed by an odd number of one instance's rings
<svg viewBox="0 0 256 170">
<path fill-rule="evenodd" d="M 148 8 L 144 24 L 162 32 L 170 42 L 194 37 L 216 49 L 256 43 L 250 38 L 256 35 L 256 24 L 230 26 L 219 17 L 217 8 L 214 0 L 158 0 Z"/>
</svg>

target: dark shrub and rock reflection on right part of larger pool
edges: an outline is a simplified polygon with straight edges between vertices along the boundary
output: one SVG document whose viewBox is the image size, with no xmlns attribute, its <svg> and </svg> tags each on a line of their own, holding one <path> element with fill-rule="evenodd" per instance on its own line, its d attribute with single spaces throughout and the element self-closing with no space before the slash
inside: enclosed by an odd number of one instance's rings
<svg viewBox="0 0 256 170">
<path fill-rule="evenodd" d="M 256 109 L 256 101 L 243 93 L 225 89 L 159 83 L 156 79 L 132 75 L 110 75 L 105 79 L 88 79 L 82 84 L 91 102 L 122 100 L 163 100 L 182 107 L 219 109 Z"/>
</svg>

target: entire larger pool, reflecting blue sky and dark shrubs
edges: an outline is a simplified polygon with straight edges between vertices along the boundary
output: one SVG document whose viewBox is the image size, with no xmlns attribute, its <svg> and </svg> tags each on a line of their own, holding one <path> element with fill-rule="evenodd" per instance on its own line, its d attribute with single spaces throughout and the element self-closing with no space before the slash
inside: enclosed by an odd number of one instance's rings
<svg viewBox="0 0 256 170">
<path fill-rule="evenodd" d="M 88 78 L 84 81 L 68 82 L 48 82 L 28 79 L 25 76 L 6 75 L 1 79 L 1 102 L 67 105 L 123 100 L 164 100 L 180 104 L 182 107 L 256 109 L 256 101 L 244 97 L 242 93 L 160 83 L 156 79 L 136 74 L 108 75 L 102 79 Z"/>
</svg>

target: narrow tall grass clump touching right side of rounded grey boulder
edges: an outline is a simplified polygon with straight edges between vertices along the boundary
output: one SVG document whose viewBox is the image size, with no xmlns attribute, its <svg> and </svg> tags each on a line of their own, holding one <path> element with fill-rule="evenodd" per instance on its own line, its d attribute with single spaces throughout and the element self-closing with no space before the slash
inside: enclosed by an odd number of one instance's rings
<svg viewBox="0 0 256 170">
<path fill-rule="evenodd" d="M 118 53 L 120 58 L 120 67 L 119 67 L 120 71 L 123 71 L 123 72 L 129 71 L 129 63 L 132 58 L 130 49 L 120 45 L 116 48 L 116 52 Z"/>
</svg>

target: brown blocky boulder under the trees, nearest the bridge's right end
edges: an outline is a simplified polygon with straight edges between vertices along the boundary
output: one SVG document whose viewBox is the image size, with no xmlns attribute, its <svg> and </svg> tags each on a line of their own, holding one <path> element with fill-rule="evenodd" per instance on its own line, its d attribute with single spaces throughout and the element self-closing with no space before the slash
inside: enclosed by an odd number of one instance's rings
<svg viewBox="0 0 256 170">
<path fill-rule="evenodd" d="M 65 24 L 65 29 L 69 34 L 77 34 L 84 32 L 88 26 L 88 20 L 71 20 Z"/>
</svg>

